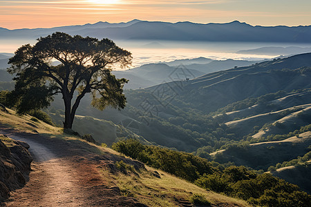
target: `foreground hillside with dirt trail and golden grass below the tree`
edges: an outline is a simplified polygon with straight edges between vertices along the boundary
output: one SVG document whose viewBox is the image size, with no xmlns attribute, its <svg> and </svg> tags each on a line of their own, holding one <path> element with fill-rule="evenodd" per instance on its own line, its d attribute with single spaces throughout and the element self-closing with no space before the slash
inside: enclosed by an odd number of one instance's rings
<svg viewBox="0 0 311 207">
<path fill-rule="evenodd" d="M 66 134 L 29 115 L 9 112 L 0 112 L 1 134 L 28 142 L 35 162 L 26 187 L 12 193 L 4 203 L 7 206 L 192 206 L 189 199 L 193 194 L 204 196 L 211 206 L 249 206 L 162 170 L 145 168 L 138 161 Z M 129 183 L 135 183 L 141 191 L 129 189 Z"/>
</svg>

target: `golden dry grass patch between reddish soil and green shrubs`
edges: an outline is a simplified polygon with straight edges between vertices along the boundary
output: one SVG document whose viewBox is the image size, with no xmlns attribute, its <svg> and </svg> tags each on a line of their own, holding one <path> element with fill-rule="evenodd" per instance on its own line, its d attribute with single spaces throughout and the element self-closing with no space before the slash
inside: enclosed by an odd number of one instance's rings
<svg viewBox="0 0 311 207">
<path fill-rule="evenodd" d="M 121 189 L 123 195 L 133 196 L 147 206 L 180 206 L 178 200 L 189 201 L 194 194 L 202 195 L 211 204 L 225 206 L 250 206 L 247 202 L 202 189 L 188 181 L 179 179 L 167 172 L 147 167 L 148 171 L 139 172 L 139 176 L 129 173 L 109 175 Z M 160 173 L 160 179 L 151 172 Z M 108 171 L 103 172 L 107 177 Z"/>
</svg>

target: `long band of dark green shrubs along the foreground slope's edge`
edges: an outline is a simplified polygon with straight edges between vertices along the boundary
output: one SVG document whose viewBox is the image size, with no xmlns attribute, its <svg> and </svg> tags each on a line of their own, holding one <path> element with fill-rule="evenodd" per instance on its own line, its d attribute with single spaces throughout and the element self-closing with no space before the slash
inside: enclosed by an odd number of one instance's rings
<svg viewBox="0 0 311 207">
<path fill-rule="evenodd" d="M 270 174 L 262 175 L 245 166 L 213 167 L 211 162 L 189 153 L 144 146 L 136 139 L 113 144 L 113 149 L 138 159 L 144 164 L 160 168 L 196 185 L 238 197 L 256 206 L 309 206 L 311 196 L 294 184 Z M 202 197 L 194 196 L 200 201 Z"/>
</svg>

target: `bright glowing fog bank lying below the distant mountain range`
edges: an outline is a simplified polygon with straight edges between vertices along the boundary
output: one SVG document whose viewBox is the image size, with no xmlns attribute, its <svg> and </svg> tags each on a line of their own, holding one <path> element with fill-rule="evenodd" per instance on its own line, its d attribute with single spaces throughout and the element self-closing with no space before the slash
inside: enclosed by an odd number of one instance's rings
<svg viewBox="0 0 311 207">
<path fill-rule="evenodd" d="M 36 41 L 31 39 L 0 39 L 0 52 L 15 52 L 21 45 Z M 240 59 L 258 61 L 272 59 L 279 55 L 294 55 L 311 52 L 310 43 L 253 43 L 253 42 L 207 42 L 207 41 L 121 41 L 115 40 L 117 46 L 133 54 L 133 67 L 147 63 L 173 61 L 206 57 L 210 59 Z M 261 48 L 260 52 L 254 51 Z M 272 50 L 271 52 L 270 50 Z M 270 50 L 269 50 L 270 49 Z M 286 49 L 286 50 L 285 50 Z M 244 50 L 243 52 L 239 52 Z M 252 50 L 245 52 L 245 50 Z M 265 53 L 265 50 L 267 52 Z M 249 54 L 247 54 L 249 53 Z M 267 54 L 267 55 L 263 55 Z"/>
</svg>

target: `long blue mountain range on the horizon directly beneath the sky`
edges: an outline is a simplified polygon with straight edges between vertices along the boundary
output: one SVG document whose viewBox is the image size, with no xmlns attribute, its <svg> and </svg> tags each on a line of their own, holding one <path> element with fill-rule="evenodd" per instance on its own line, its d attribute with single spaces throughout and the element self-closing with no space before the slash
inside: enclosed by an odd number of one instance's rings
<svg viewBox="0 0 311 207">
<path fill-rule="evenodd" d="M 67 32 L 102 39 L 173 40 L 173 41 L 252 41 L 252 42 L 311 42 L 311 26 L 251 26 L 247 23 L 168 23 L 133 20 L 127 23 L 99 22 L 84 26 L 7 30 L 0 28 L 1 39 L 34 39 L 53 32 Z"/>
</svg>

